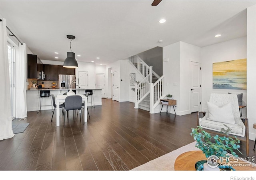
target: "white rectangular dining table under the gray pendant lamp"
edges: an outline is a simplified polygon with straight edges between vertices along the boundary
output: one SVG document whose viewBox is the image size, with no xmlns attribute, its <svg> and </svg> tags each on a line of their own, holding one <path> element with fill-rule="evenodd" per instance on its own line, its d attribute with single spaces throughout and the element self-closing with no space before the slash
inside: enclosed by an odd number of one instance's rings
<svg viewBox="0 0 256 180">
<path fill-rule="evenodd" d="M 82 95 L 82 94 L 76 94 L 82 97 L 82 100 L 84 102 L 84 122 L 87 122 L 87 97 Z M 56 97 L 56 126 L 60 126 L 60 104 L 62 104 L 63 102 L 65 102 L 66 97 L 68 97 L 68 95 L 61 95 L 59 94 Z"/>
</svg>

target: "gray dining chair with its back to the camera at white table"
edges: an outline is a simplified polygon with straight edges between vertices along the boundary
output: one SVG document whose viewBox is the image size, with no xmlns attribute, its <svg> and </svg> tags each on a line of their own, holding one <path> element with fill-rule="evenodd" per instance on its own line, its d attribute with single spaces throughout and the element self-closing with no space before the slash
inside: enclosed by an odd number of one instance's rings
<svg viewBox="0 0 256 180">
<path fill-rule="evenodd" d="M 65 99 L 65 107 L 64 107 L 64 127 L 65 127 L 65 119 L 66 119 L 66 112 L 67 112 L 67 117 L 68 117 L 68 111 L 69 110 L 79 110 L 80 111 L 80 121 L 81 121 L 81 114 L 82 114 L 82 97 L 79 95 L 72 95 L 72 96 L 67 96 Z M 82 114 L 83 116 L 83 114 Z M 74 116 L 73 116 L 74 118 Z M 83 121 L 84 124 L 84 121 Z"/>
</svg>

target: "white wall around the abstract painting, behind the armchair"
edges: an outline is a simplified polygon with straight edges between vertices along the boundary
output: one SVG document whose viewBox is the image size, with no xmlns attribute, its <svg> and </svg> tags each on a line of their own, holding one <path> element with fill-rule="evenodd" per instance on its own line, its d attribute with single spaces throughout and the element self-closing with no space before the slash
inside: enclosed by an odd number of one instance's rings
<svg viewBox="0 0 256 180">
<path fill-rule="evenodd" d="M 247 106 L 246 90 L 212 88 L 212 63 L 244 58 L 246 58 L 246 37 L 202 48 L 202 111 L 207 110 L 206 102 L 209 100 L 211 93 L 243 93 L 243 105 Z M 242 109 L 242 116 L 246 117 L 246 108 Z"/>
</svg>

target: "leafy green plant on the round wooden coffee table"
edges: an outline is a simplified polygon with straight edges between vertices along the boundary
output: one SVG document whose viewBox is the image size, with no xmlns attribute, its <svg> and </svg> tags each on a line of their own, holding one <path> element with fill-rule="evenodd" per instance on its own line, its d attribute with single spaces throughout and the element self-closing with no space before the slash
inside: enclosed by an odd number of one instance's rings
<svg viewBox="0 0 256 180">
<path fill-rule="evenodd" d="M 224 124 L 224 126 L 226 126 Z M 197 126 L 197 128 L 191 128 L 192 132 L 190 133 L 196 141 L 196 147 L 202 150 L 205 154 L 206 158 L 211 155 L 216 155 L 218 157 L 228 156 L 227 153 L 232 154 L 233 156 L 238 156 L 234 150 L 238 150 L 240 148 L 240 140 L 234 136 L 234 138 L 228 137 L 231 129 L 226 126 L 227 129 L 221 129 L 221 132 L 224 132 L 227 136 L 211 136 L 210 133 L 203 130 L 201 126 Z M 241 153 L 241 152 L 240 152 Z M 242 154 L 242 153 L 241 153 Z"/>
</svg>

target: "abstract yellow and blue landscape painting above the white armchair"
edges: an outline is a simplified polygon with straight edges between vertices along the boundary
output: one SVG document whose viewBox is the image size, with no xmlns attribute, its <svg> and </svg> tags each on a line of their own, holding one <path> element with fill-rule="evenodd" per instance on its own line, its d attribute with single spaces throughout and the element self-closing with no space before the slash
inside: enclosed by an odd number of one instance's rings
<svg viewBox="0 0 256 180">
<path fill-rule="evenodd" d="M 212 64 L 213 89 L 247 89 L 246 59 L 215 62 Z"/>
</svg>

